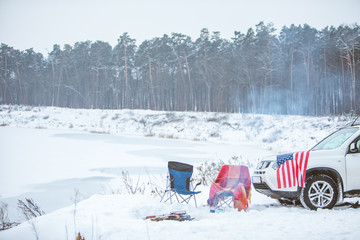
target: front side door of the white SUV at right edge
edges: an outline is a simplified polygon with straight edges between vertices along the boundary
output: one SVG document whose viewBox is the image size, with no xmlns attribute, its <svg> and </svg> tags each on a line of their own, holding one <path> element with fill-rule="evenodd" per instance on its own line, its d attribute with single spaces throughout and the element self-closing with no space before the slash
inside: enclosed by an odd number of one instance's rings
<svg viewBox="0 0 360 240">
<path fill-rule="evenodd" d="M 356 152 L 349 150 L 346 155 L 347 191 L 360 190 L 360 136 L 352 144 Z"/>
</svg>

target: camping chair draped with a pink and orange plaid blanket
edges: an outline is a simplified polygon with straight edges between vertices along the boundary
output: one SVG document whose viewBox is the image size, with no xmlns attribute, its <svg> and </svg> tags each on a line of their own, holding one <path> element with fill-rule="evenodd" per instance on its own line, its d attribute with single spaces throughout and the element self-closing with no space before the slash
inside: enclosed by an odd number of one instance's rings
<svg viewBox="0 0 360 240">
<path fill-rule="evenodd" d="M 249 169 L 243 165 L 224 165 L 211 184 L 208 204 L 210 207 L 224 206 L 246 210 L 251 200 L 251 179 Z"/>
</svg>

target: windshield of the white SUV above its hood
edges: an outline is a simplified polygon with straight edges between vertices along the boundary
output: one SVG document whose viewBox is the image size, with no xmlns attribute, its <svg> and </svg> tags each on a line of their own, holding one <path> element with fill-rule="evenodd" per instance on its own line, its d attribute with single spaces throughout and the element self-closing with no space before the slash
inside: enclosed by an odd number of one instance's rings
<svg viewBox="0 0 360 240">
<path fill-rule="evenodd" d="M 344 128 L 329 135 L 318 143 L 312 150 L 330 150 L 340 147 L 346 140 L 348 140 L 358 128 Z"/>
</svg>

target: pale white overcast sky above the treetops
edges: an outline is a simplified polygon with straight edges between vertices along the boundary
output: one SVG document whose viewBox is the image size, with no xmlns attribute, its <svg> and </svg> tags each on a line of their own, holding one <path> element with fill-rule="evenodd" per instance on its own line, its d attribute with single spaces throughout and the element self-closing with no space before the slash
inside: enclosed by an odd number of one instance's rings
<svg viewBox="0 0 360 240">
<path fill-rule="evenodd" d="M 54 44 L 136 39 L 172 32 L 196 40 L 202 28 L 230 39 L 260 21 L 282 26 L 360 23 L 360 0 L 0 0 L 0 42 L 47 56 Z"/>
</svg>

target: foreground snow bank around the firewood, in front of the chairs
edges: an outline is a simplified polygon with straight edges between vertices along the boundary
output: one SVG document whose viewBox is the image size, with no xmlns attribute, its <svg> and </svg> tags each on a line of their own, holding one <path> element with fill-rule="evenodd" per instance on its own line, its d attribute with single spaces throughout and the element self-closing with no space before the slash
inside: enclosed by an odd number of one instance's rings
<svg viewBox="0 0 360 240">
<path fill-rule="evenodd" d="M 146 216 L 181 209 L 192 221 L 152 222 Z M 75 214 L 74 211 L 76 210 Z M 356 209 L 308 211 L 298 207 L 253 204 L 247 212 L 227 209 L 220 214 L 207 207 L 159 204 L 143 195 L 94 195 L 29 223 L 0 232 L 1 239 L 357 239 Z M 35 232 L 36 231 L 36 232 Z"/>
</svg>

